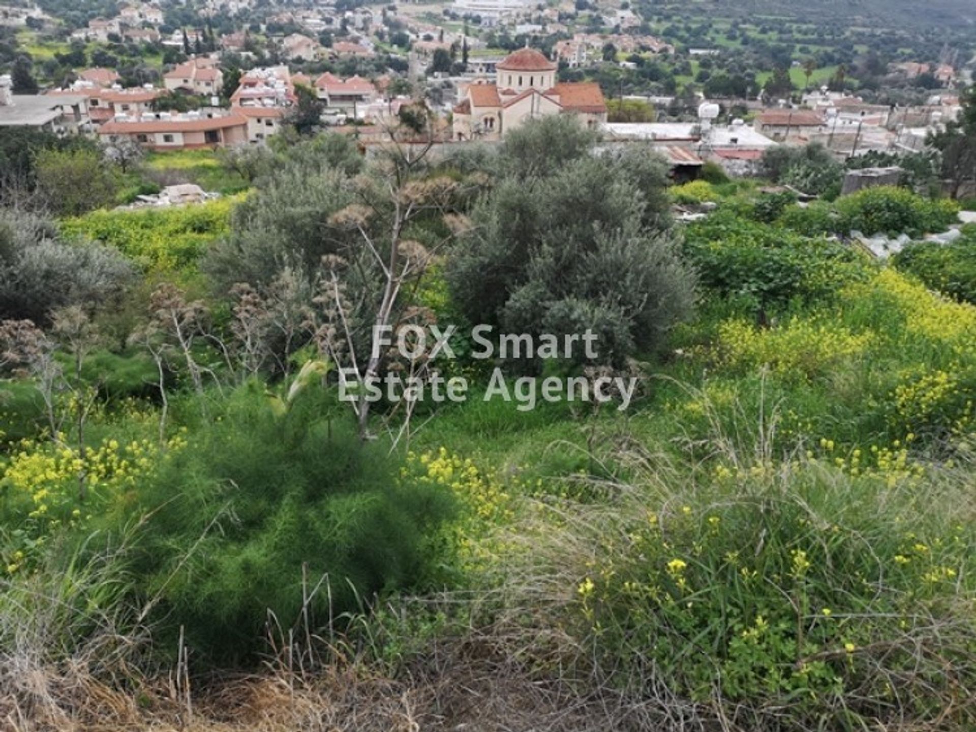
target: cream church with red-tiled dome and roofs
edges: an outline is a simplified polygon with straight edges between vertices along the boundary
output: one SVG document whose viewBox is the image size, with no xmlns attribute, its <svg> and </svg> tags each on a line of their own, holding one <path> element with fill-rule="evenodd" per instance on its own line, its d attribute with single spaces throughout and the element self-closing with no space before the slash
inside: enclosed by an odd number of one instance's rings
<svg viewBox="0 0 976 732">
<path fill-rule="evenodd" d="M 527 120 L 575 114 L 589 128 L 606 122 L 598 84 L 556 83 L 556 64 L 535 49 L 520 49 L 498 64 L 494 84 L 470 84 L 454 107 L 453 137 L 501 139 Z"/>
</svg>

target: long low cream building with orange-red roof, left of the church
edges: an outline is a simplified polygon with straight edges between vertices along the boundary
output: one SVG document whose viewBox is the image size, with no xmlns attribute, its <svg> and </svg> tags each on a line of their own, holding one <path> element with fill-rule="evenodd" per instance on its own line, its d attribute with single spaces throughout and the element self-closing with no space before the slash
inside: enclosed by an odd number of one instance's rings
<svg viewBox="0 0 976 732">
<path fill-rule="evenodd" d="M 99 128 L 102 141 L 126 137 L 152 150 L 226 147 L 246 143 L 247 135 L 247 118 L 234 111 L 120 115 Z"/>
</svg>

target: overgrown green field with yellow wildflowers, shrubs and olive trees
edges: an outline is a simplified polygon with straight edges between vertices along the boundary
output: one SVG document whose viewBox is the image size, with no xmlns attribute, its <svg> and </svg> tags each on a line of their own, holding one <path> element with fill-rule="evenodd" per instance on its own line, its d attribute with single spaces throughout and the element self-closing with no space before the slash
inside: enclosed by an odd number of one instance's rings
<svg viewBox="0 0 976 732">
<path fill-rule="evenodd" d="M 848 239 L 954 203 L 669 190 L 552 118 L 442 160 L 301 144 L 246 198 L 0 219 L 3 266 L 70 285 L 0 270 L 0 718 L 976 724 L 976 231 Z M 393 332 L 455 325 L 456 358 L 378 368 L 464 403 L 341 401 L 391 269 Z M 484 362 L 479 323 L 602 350 Z M 495 366 L 637 398 L 524 409 Z"/>
</svg>

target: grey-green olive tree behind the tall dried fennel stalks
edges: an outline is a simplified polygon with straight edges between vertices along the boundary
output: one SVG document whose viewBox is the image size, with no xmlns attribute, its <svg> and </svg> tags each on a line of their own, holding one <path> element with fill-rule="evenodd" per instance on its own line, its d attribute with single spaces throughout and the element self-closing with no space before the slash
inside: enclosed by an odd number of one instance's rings
<svg viewBox="0 0 976 732">
<path fill-rule="evenodd" d="M 323 138 L 285 159 L 234 212 L 231 235 L 204 267 L 224 292 L 247 284 L 267 299 L 283 278 L 297 297 L 310 292 L 305 342 L 334 366 L 372 377 L 385 358 L 373 347 L 376 328 L 395 331 L 410 317 L 405 290 L 452 236 L 445 217 L 463 184 L 430 165 L 429 145 L 393 145 L 364 166 L 347 144 Z M 367 402 L 357 405 L 363 435 L 368 415 Z"/>
</svg>

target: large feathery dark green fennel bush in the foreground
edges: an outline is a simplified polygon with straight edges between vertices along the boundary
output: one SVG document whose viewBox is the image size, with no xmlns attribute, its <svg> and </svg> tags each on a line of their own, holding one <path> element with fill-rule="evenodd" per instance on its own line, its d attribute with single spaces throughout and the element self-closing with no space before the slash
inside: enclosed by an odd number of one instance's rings
<svg viewBox="0 0 976 732">
<path fill-rule="evenodd" d="M 336 408 L 306 392 L 277 414 L 263 386 L 246 385 L 120 497 L 119 524 L 146 517 L 135 569 L 159 597 L 155 617 L 184 626 L 206 657 L 255 651 L 269 617 L 291 627 L 304 590 L 323 578 L 308 608 L 312 632 L 377 593 L 429 578 L 437 557 L 428 537 L 450 498 L 402 481 L 388 448 L 361 443 Z"/>
</svg>

